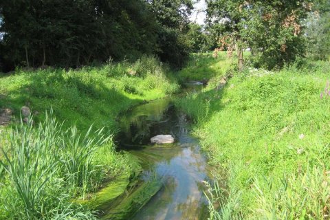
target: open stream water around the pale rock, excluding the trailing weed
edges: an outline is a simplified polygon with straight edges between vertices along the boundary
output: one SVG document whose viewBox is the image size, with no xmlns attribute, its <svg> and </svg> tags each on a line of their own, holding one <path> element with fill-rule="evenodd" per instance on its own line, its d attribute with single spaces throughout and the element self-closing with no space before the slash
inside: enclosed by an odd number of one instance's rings
<svg viewBox="0 0 330 220">
<path fill-rule="evenodd" d="M 157 194 L 132 219 L 207 219 L 203 181 L 210 181 L 210 168 L 198 140 L 190 135 L 186 115 L 175 109 L 173 100 L 142 104 L 121 116 L 121 148 L 137 156 L 144 173 L 141 179 L 157 175 L 164 182 Z M 150 138 L 170 134 L 175 144 L 157 146 Z"/>
</svg>

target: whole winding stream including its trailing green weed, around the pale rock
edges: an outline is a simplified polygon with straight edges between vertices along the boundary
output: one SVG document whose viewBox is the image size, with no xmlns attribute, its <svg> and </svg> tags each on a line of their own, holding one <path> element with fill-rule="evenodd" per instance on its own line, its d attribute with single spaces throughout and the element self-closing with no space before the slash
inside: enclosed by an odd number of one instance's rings
<svg viewBox="0 0 330 220">
<path fill-rule="evenodd" d="M 203 85 L 192 82 L 187 87 L 181 95 Z M 204 181 L 212 181 L 211 168 L 199 140 L 190 134 L 190 120 L 175 107 L 179 96 L 140 104 L 120 115 L 115 142 L 120 153 L 131 157 L 133 170 L 87 201 L 100 210 L 101 219 L 208 219 Z M 151 144 L 151 137 L 159 134 L 172 135 L 175 142 Z"/>
</svg>

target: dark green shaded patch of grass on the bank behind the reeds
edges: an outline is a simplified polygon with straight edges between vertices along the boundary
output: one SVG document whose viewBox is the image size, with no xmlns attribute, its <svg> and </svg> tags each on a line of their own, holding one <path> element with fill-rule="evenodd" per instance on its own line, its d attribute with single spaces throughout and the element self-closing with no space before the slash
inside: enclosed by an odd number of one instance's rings
<svg viewBox="0 0 330 220">
<path fill-rule="evenodd" d="M 65 126 L 76 124 L 80 131 L 86 131 L 91 124 L 94 128 L 105 127 L 115 131 L 116 115 L 141 100 L 125 96 L 124 91 L 106 85 L 104 80 L 80 73 L 65 76 L 63 70 L 50 69 L 31 72 L 19 78 L 17 89 L 6 91 L 0 98 L 0 106 L 14 110 L 20 118 L 23 105 L 30 107 L 36 122 L 45 118 L 45 111 L 51 108 Z M 12 76 L 8 76 L 12 77 Z M 9 87 L 9 85 L 8 85 Z M 1 89 L 5 91 L 5 88 Z"/>
</svg>

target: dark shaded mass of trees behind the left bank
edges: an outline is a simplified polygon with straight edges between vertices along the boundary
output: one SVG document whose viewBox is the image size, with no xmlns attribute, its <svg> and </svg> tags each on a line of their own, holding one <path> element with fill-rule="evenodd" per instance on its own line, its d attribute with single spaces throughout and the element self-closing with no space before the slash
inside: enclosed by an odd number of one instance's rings
<svg viewBox="0 0 330 220">
<path fill-rule="evenodd" d="M 0 67 L 80 67 L 157 54 L 183 64 L 192 1 L 1 1 Z"/>
</svg>

